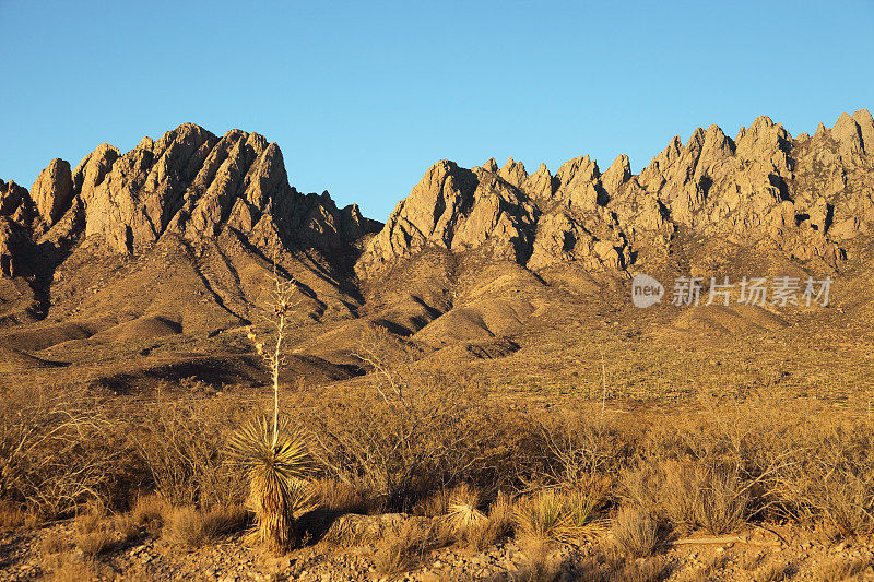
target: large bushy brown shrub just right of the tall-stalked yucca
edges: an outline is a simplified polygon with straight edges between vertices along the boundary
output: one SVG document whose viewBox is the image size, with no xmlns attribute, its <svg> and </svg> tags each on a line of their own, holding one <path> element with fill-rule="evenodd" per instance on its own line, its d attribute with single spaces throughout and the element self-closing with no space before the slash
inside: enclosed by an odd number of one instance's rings
<svg viewBox="0 0 874 582">
<path fill-rule="evenodd" d="M 324 476 L 409 511 L 460 483 L 494 490 L 534 473 L 531 430 L 483 387 L 434 369 L 403 378 L 400 388 L 375 378 L 354 391 L 297 395 L 284 414 L 308 427 Z"/>
</svg>

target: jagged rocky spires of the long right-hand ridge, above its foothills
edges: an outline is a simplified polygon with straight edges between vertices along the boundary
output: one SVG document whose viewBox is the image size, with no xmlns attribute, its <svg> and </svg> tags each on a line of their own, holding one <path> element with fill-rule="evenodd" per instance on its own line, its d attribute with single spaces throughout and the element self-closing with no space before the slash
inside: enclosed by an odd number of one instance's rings
<svg viewBox="0 0 874 582">
<path fill-rule="evenodd" d="M 666 256 L 680 230 L 836 268 L 842 244 L 874 223 L 872 171 L 866 110 L 795 139 L 767 117 L 734 140 L 698 128 L 636 176 L 624 155 L 603 173 L 578 157 L 555 176 L 544 165 L 529 175 L 512 158 L 470 170 L 444 161 L 398 204 L 357 271 L 373 276 L 432 246 L 532 270 L 576 261 L 621 273 L 641 252 Z"/>
</svg>

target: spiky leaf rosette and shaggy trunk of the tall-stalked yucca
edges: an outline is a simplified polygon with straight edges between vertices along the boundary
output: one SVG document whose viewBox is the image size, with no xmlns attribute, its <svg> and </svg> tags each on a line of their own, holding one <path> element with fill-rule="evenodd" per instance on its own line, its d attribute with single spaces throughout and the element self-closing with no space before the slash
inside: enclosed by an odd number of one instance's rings
<svg viewBox="0 0 874 582">
<path fill-rule="evenodd" d="M 249 483 L 258 539 L 274 551 L 287 549 L 296 541 L 295 516 L 310 507 L 304 480 L 309 466 L 306 439 L 284 423 L 274 430 L 260 418 L 237 429 L 228 449 Z"/>
</svg>

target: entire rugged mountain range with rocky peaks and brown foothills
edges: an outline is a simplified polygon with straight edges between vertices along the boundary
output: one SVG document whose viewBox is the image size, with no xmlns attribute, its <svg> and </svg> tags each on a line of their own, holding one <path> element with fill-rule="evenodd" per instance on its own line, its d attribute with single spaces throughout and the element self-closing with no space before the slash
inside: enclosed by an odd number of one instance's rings
<svg viewBox="0 0 874 582">
<path fill-rule="evenodd" d="M 123 154 L 102 144 L 75 167 L 54 159 L 29 190 L 0 180 L 0 381 L 69 366 L 122 389 L 203 370 L 257 381 L 245 329 L 260 324 L 274 264 L 303 297 L 290 367 L 327 380 L 357 373 L 356 346 L 374 333 L 416 357 L 472 363 L 538 349 L 567 325 L 613 321 L 649 337 L 811 317 L 772 305 L 635 310 L 638 273 L 668 285 L 834 277 L 829 317 L 864 322 L 872 227 L 864 109 L 794 138 L 764 116 L 733 139 L 698 128 L 636 175 L 625 155 L 554 174 L 440 161 L 385 224 L 298 192 L 263 136 L 186 123 Z"/>
</svg>

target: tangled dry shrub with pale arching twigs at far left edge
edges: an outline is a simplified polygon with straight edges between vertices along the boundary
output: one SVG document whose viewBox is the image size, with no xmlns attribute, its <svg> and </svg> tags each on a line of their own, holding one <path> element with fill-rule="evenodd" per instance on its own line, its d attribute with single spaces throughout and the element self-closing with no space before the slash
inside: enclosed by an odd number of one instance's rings
<svg viewBox="0 0 874 582">
<path fill-rule="evenodd" d="M 0 499 L 44 518 L 110 502 L 130 470 L 127 440 L 75 393 L 12 390 L 0 397 Z"/>
</svg>

